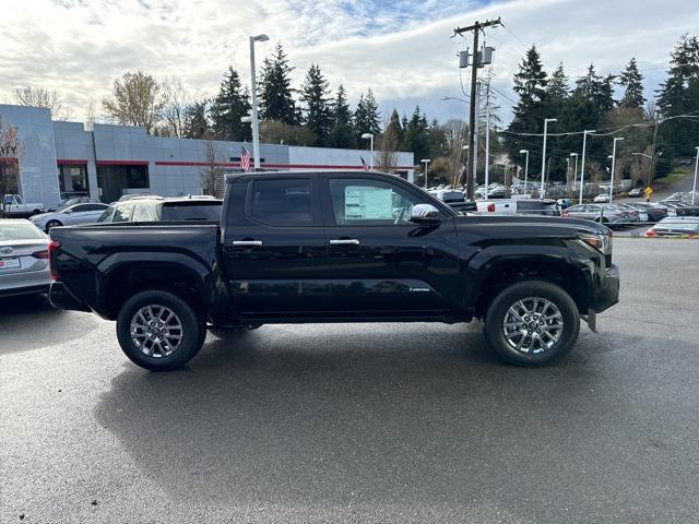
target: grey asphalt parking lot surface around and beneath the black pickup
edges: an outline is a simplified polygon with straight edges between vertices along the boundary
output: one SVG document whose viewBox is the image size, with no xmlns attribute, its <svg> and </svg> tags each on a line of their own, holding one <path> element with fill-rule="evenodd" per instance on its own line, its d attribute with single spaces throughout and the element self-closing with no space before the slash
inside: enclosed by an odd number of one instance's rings
<svg viewBox="0 0 699 524">
<path fill-rule="evenodd" d="M 263 326 L 183 370 L 0 303 L 1 522 L 696 522 L 699 241 L 618 238 L 621 302 L 541 369 L 481 325 Z"/>
</svg>

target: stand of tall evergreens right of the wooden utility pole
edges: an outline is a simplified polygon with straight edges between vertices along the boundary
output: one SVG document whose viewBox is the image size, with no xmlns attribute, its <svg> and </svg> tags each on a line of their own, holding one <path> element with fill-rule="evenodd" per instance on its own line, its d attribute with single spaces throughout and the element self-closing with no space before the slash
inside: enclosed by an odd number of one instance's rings
<svg viewBox="0 0 699 524">
<path fill-rule="evenodd" d="M 699 116 L 697 37 L 679 38 L 671 52 L 667 80 L 656 90 L 654 99 L 645 99 L 642 82 L 636 58 L 631 58 L 617 74 L 599 74 L 591 63 L 571 83 L 562 63 L 547 74 L 533 46 L 513 78 L 519 99 L 514 100 L 511 122 L 501 133 L 502 145 L 520 166 L 524 160 L 520 151 L 529 150 L 530 175 L 541 180 L 544 119 L 556 118 L 548 126 L 546 176 L 552 180 L 570 179 L 572 163 L 567 159 L 570 153 L 581 153 L 583 130 L 596 130 L 587 144 L 585 171 L 592 181 L 608 171 L 613 135 L 625 139 L 617 146 L 615 179 L 626 177 L 639 183 L 649 176 L 652 179 L 648 156 L 655 158 L 654 177 L 662 177 L 672 169 L 673 159 L 692 156 L 699 145 L 699 122 L 691 116 L 676 118 L 692 111 Z M 615 97 L 617 87 L 619 97 Z"/>
</svg>

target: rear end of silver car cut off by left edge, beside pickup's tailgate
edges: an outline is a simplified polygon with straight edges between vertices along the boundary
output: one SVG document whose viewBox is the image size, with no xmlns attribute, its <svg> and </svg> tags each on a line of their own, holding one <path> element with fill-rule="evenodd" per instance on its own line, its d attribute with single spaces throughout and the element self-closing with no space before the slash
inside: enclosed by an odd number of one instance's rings
<svg viewBox="0 0 699 524">
<path fill-rule="evenodd" d="M 0 297 L 47 293 L 48 237 L 23 218 L 0 218 Z"/>
</svg>

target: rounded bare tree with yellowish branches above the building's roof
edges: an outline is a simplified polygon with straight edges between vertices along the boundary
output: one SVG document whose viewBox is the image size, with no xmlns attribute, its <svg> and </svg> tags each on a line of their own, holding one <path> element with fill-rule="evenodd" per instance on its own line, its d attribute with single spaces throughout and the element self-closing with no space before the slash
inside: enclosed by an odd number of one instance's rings
<svg viewBox="0 0 699 524">
<path fill-rule="evenodd" d="M 126 73 L 114 81 L 111 96 L 102 102 L 109 117 L 127 126 L 142 126 L 150 133 L 161 120 L 161 85 L 143 71 Z"/>
</svg>

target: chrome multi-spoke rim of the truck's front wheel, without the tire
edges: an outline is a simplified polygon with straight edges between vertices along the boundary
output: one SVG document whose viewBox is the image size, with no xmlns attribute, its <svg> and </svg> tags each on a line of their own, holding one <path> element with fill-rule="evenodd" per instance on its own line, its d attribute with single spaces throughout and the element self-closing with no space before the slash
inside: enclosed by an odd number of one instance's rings
<svg viewBox="0 0 699 524">
<path fill-rule="evenodd" d="M 541 354 L 560 340 L 564 315 L 554 302 L 545 298 L 523 298 L 507 310 L 502 333 L 508 344 L 518 352 Z"/>
</svg>

